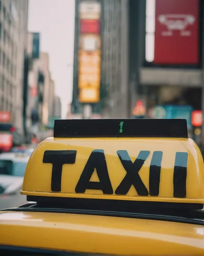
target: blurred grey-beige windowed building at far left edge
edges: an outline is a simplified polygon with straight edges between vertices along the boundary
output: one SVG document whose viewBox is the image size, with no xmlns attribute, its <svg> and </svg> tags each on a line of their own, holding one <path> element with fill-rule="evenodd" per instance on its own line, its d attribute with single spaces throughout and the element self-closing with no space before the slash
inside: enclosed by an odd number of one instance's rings
<svg viewBox="0 0 204 256">
<path fill-rule="evenodd" d="M 0 1 L 0 110 L 11 113 L 19 136 L 23 129 L 24 54 L 27 48 L 28 0 Z"/>
</svg>

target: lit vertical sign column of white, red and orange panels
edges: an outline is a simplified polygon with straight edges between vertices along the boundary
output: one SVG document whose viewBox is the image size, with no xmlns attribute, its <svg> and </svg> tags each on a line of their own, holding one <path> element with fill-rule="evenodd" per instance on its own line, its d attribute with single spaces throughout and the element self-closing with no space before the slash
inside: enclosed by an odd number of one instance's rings
<svg viewBox="0 0 204 256">
<path fill-rule="evenodd" d="M 97 103 L 100 101 L 101 80 L 101 4 L 82 0 L 79 18 L 79 101 Z"/>
</svg>

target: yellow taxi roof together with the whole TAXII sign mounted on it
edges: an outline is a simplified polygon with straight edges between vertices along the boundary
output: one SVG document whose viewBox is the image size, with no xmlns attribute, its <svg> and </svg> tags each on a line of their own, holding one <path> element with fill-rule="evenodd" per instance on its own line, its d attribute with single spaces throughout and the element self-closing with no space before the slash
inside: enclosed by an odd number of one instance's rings
<svg viewBox="0 0 204 256">
<path fill-rule="evenodd" d="M 56 120 L 25 172 L 35 203 L 0 212 L 0 245 L 203 255 L 203 175 L 186 120 Z"/>
</svg>

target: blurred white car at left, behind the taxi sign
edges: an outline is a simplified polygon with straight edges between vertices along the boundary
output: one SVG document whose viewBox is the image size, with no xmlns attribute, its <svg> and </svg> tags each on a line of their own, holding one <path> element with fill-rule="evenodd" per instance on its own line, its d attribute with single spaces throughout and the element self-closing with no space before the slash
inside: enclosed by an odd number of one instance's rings
<svg viewBox="0 0 204 256">
<path fill-rule="evenodd" d="M 20 195 L 20 189 L 28 160 L 29 155 L 25 153 L 0 155 L 0 208 L 27 203 L 26 196 Z"/>
</svg>

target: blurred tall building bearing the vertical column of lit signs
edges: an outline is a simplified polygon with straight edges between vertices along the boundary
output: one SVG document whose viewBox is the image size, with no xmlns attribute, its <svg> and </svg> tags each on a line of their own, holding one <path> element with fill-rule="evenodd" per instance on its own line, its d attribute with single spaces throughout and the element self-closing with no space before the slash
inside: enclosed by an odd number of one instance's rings
<svg viewBox="0 0 204 256">
<path fill-rule="evenodd" d="M 127 117 L 128 0 L 77 0 L 75 6 L 72 114 L 91 108 L 105 118 Z"/>
</svg>

